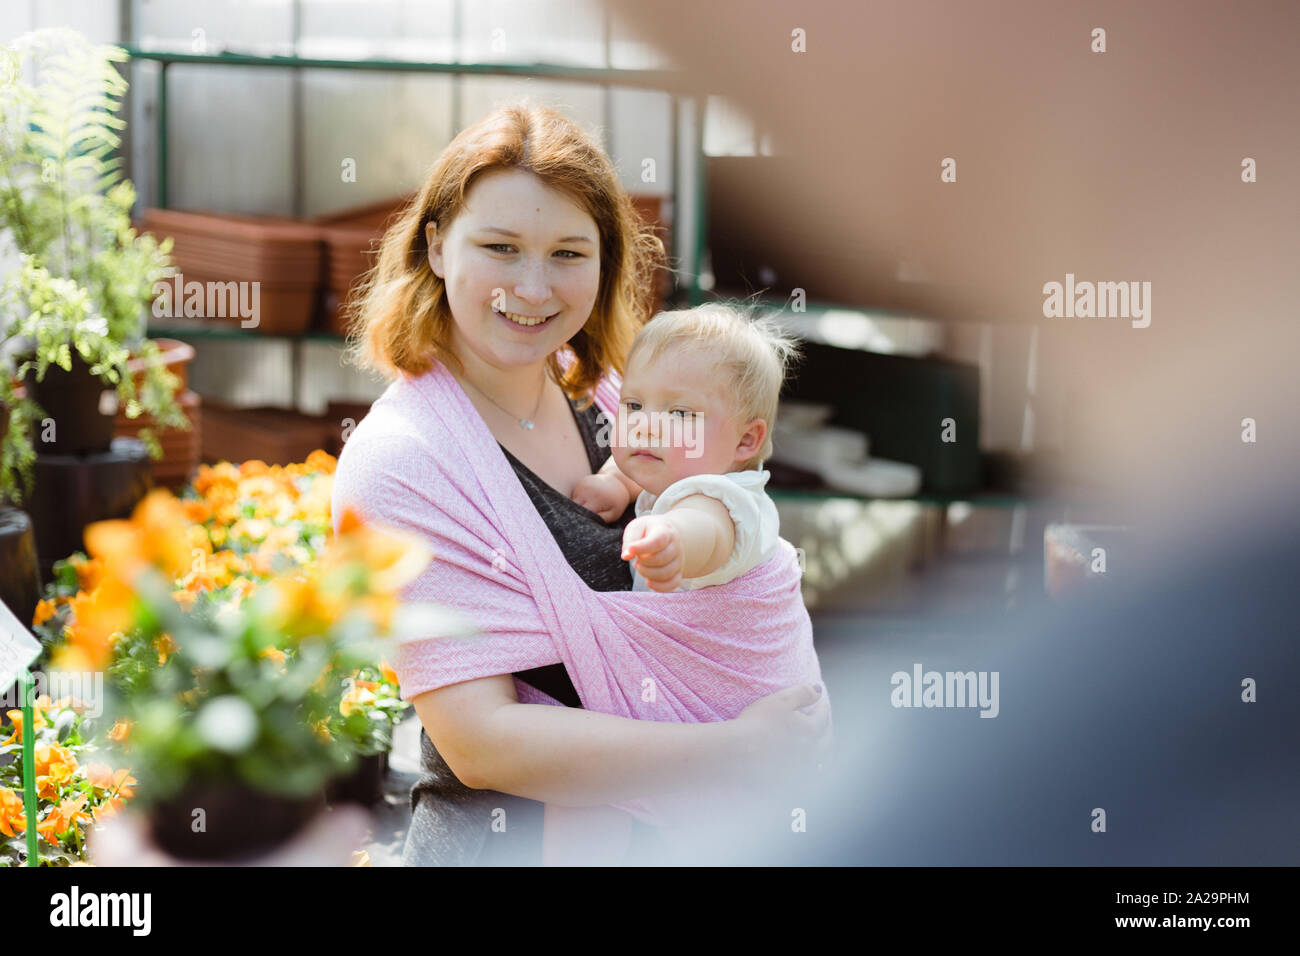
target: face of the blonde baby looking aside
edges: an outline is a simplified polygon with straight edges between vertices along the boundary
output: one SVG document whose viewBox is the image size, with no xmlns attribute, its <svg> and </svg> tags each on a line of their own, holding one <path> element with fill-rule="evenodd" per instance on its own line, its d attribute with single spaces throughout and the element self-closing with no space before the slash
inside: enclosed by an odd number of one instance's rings
<svg viewBox="0 0 1300 956">
<path fill-rule="evenodd" d="M 633 356 L 623 377 L 611 453 L 619 470 L 651 494 L 690 475 L 722 475 L 754 454 L 722 376 L 703 351 L 671 349 L 654 362 Z"/>
</svg>

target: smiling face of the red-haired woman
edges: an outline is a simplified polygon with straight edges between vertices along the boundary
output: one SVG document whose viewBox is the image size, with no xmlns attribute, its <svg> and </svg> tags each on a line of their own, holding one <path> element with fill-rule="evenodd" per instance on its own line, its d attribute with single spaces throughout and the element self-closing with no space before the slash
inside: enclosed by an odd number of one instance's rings
<svg viewBox="0 0 1300 956">
<path fill-rule="evenodd" d="M 474 181 L 451 226 L 426 230 L 447 287 L 451 349 L 495 368 L 546 359 L 586 324 L 601 285 L 601 235 L 572 199 L 523 169 Z"/>
</svg>

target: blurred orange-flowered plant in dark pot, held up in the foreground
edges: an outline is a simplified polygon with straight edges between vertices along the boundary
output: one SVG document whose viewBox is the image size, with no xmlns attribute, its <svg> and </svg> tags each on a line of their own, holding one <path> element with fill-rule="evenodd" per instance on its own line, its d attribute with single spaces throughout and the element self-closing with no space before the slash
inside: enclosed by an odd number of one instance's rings
<svg viewBox="0 0 1300 956">
<path fill-rule="evenodd" d="M 77 584 L 64 584 L 91 591 L 72 600 L 51 659 L 55 670 L 107 675 L 113 762 L 138 779 L 133 804 L 155 843 L 179 858 L 231 861 L 292 838 L 330 780 L 356 766 L 358 737 L 332 727 L 347 717 L 341 688 L 381 659 L 377 640 L 471 630 L 439 609 L 402 605 L 426 548 L 354 515 L 308 564 L 182 600 L 190 592 L 177 583 L 205 535 L 162 489 L 129 520 L 90 525 L 90 558 L 72 566 Z"/>
</svg>

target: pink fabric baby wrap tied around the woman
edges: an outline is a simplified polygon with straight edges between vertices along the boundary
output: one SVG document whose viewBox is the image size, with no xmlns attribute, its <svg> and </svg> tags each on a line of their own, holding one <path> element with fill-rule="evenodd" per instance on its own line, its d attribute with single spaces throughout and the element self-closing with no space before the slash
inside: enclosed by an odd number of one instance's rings
<svg viewBox="0 0 1300 956">
<path fill-rule="evenodd" d="M 618 384 L 606 376 L 594 395 L 611 419 Z M 335 523 L 348 506 L 422 536 L 434 557 L 403 597 L 451 607 L 480 630 L 403 644 L 394 670 L 406 700 L 563 662 L 589 710 L 698 723 L 733 718 L 759 697 L 822 679 L 789 542 L 719 587 L 592 591 L 441 363 L 394 382 L 348 437 L 334 481 Z M 562 706 L 517 679 L 515 688 L 524 704 Z M 663 826 L 672 803 L 618 806 Z"/>
</svg>

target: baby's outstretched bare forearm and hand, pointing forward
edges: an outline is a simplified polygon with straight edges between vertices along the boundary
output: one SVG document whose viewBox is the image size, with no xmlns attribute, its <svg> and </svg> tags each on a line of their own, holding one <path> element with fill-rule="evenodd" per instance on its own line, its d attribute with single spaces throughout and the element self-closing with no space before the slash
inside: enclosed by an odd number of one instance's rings
<svg viewBox="0 0 1300 956">
<path fill-rule="evenodd" d="M 667 514 L 642 515 L 623 532 L 623 559 L 651 591 L 673 591 L 685 578 L 712 574 L 736 548 L 736 523 L 727 506 L 707 494 L 690 494 Z"/>
</svg>

